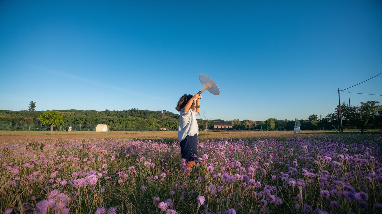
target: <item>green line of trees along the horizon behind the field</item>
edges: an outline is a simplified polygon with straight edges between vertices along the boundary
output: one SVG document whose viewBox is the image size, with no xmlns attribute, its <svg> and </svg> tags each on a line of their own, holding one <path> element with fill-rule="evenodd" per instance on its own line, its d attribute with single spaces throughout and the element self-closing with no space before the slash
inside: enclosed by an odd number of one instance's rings
<svg viewBox="0 0 382 214">
<path fill-rule="evenodd" d="M 8 127 L 18 124 L 42 124 L 39 120 L 41 114 L 47 111 L 35 111 L 36 103 L 31 101 L 25 111 L 0 110 L 0 124 L 5 122 Z M 48 110 L 49 111 L 49 110 Z M 106 124 L 109 130 L 177 130 L 179 114 L 170 111 L 150 111 L 130 108 L 124 111 L 94 111 L 94 110 L 55 110 L 63 117 L 64 126 L 88 127 L 95 124 Z M 341 105 L 342 124 L 344 129 L 382 129 L 382 106 L 378 101 L 361 102 L 359 106 Z M 329 130 L 340 127 L 339 106 L 333 113 L 325 118 L 318 114 L 309 115 L 308 119 L 299 119 L 302 130 Z M 269 118 L 257 121 L 255 126 L 249 126 L 249 120 L 224 121 L 210 119 L 208 116 L 198 118 L 200 129 L 214 129 L 214 122 L 232 122 L 232 129 L 236 130 L 293 130 L 295 121 L 277 120 Z M 1 129 L 1 127 L 0 127 Z"/>
</svg>

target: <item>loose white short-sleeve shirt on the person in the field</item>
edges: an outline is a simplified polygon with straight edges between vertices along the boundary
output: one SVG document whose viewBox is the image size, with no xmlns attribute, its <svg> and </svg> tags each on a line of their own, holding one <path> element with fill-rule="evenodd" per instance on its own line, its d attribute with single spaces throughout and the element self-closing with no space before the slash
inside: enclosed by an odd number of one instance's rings
<svg viewBox="0 0 382 214">
<path fill-rule="evenodd" d="M 191 110 L 185 111 L 185 108 L 180 109 L 179 126 L 178 126 L 178 140 L 181 142 L 187 135 L 194 136 L 199 134 L 197 127 L 196 114 L 197 112 Z"/>
</svg>

